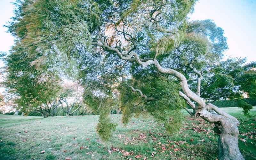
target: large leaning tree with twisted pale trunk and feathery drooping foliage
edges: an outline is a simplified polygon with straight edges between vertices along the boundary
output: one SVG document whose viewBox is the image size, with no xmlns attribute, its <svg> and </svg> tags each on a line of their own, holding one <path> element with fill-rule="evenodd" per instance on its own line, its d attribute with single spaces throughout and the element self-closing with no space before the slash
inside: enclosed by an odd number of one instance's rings
<svg viewBox="0 0 256 160">
<path fill-rule="evenodd" d="M 238 93 L 229 83 L 236 76 L 217 67 L 223 65 L 226 37 L 211 20 L 187 20 L 194 4 L 195 0 L 17 1 L 9 32 L 33 58 L 33 66 L 48 64 L 54 70 L 68 64 L 64 69 L 79 73 L 81 84 L 91 88 L 84 93 L 85 101 L 101 112 L 101 138 L 108 140 L 115 128 L 108 106 L 119 84 L 124 123 L 134 111 L 149 112 L 167 131 L 177 131 L 180 109 L 187 102 L 194 110 L 190 114 L 216 125 L 219 159 L 244 159 L 237 142 L 238 120 L 208 102 L 226 98 L 218 92 Z M 252 76 L 241 77 L 251 77 L 255 84 Z M 252 90 L 244 87 L 245 92 Z"/>
</svg>

